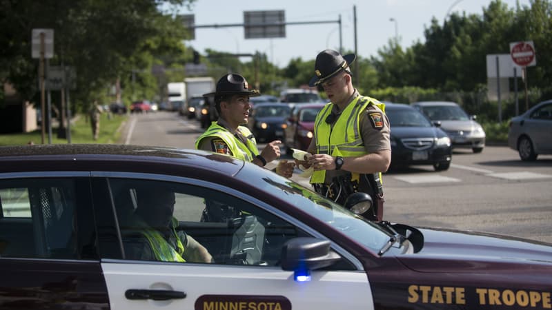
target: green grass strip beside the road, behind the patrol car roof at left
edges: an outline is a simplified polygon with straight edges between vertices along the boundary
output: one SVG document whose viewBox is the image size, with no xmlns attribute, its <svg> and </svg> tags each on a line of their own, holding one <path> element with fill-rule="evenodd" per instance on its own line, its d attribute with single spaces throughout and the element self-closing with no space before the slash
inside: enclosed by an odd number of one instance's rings
<svg viewBox="0 0 552 310">
<path fill-rule="evenodd" d="M 71 143 L 103 143 L 113 144 L 118 143 L 121 137 L 121 125 L 128 118 L 127 115 L 113 114 L 108 117 L 108 114 L 102 113 L 99 122 L 99 138 L 94 140 L 92 136 L 92 128 L 90 119 L 87 115 L 79 115 L 74 118 L 71 123 Z M 52 127 L 52 144 L 68 143 L 66 138 L 57 137 L 58 127 Z M 0 134 L 0 145 L 26 145 L 28 143 L 41 144 L 42 134 L 41 127 L 34 132 L 17 133 L 17 134 Z M 48 144 L 48 128 L 44 135 L 44 144 Z"/>
</svg>

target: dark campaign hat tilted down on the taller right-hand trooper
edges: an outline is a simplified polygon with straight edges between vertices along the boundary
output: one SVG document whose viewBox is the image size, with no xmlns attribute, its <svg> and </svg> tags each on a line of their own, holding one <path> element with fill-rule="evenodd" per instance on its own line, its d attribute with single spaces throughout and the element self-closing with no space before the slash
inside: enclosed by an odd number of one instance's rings
<svg viewBox="0 0 552 310">
<path fill-rule="evenodd" d="M 324 83 L 335 74 L 345 70 L 355 59 L 357 55 L 346 54 L 342 56 L 335 50 L 324 50 L 316 56 L 315 61 L 315 76 L 308 82 L 308 85 L 313 87 L 320 83 Z"/>
</svg>

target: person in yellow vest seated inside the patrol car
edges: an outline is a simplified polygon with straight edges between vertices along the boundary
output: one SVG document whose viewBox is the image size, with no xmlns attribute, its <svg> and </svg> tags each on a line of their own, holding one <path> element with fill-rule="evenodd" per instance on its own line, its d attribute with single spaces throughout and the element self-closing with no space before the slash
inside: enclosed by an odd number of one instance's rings
<svg viewBox="0 0 552 310">
<path fill-rule="evenodd" d="M 207 249 L 184 231 L 177 231 L 175 193 L 164 188 L 141 189 L 137 192 L 137 218 L 132 226 L 148 240 L 144 245 L 126 249 L 131 257 L 166 262 L 213 262 Z"/>
</svg>

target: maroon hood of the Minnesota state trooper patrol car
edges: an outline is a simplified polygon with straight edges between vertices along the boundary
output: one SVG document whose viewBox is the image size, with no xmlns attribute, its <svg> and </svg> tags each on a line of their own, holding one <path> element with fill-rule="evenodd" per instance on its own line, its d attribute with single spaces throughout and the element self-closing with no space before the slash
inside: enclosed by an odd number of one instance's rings
<svg viewBox="0 0 552 310">
<path fill-rule="evenodd" d="M 545 242 L 475 231 L 433 228 L 420 231 L 424 235 L 422 249 L 398 257 L 416 271 L 484 271 L 489 265 L 502 262 L 506 265 L 533 262 L 552 267 L 552 245 Z"/>
</svg>

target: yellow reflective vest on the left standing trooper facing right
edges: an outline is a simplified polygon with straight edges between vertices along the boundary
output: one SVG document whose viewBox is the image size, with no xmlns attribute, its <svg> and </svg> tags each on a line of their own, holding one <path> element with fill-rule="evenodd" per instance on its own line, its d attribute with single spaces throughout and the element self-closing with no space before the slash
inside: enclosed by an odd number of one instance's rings
<svg viewBox="0 0 552 310">
<path fill-rule="evenodd" d="M 241 159 L 242 161 L 253 161 L 255 156 L 259 155 L 259 149 L 257 149 L 257 141 L 255 137 L 250 132 L 249 128 L 246 126 L 238 126 L 237 131 L 246 137 L 246 144 L 242 142 L 239 138 L 236 138 L 233 133 L 229 132 L 225 127 L 213 122 L 208 129 L 197 138 L 195 141 L 195 148 L 199 148 L 199 142 L 206 137 L 217 136 L 221 138 L 230 152 L 232 152 L 235 158 Z"/>
</svg>

